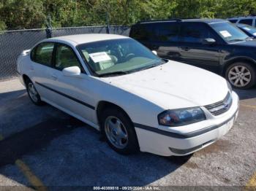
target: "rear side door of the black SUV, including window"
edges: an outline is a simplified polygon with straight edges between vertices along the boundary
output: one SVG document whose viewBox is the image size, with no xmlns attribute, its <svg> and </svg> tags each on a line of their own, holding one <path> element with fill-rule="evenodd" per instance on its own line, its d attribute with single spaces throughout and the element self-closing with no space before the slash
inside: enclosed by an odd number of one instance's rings
<svg viewBox="0 0 256 191">
<path fill-rule="evenodd" d="M 148 47 L 156 50 L 157 55 L 161 58 L 180 61 L 181 55 L 179 50 L 178 33 L 180 31 L 179 22 L 153 23 L 154 37 L 151 39 Z"/>
</svg>

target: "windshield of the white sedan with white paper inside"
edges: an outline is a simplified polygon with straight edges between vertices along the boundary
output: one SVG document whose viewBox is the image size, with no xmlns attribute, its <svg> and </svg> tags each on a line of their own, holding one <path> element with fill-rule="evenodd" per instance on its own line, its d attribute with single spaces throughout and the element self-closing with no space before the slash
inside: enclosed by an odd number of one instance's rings
<svg viewBox="0 0 256 191">
<path fill-rule="evenodd" d="M 163 61 L 134 39 L 111 39 L 78 45 L 97 76 L 127 74 L 158 66 Z"/>
</svg>

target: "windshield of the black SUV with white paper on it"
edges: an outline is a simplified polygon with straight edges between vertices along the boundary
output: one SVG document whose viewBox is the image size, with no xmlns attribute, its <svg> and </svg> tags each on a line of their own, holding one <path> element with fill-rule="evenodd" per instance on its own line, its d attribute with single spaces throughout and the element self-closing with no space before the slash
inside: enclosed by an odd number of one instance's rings
<svg viewBox="0 0 256 191">
<path fill-rule="evenodd" d="M 211 27 L 214 28 L 214 31 L 217 31 L 219 36 L 221 36 L 226 42 L 244 41 L 249 37 L 229 22 L 212 23 Z"/>
</svg>

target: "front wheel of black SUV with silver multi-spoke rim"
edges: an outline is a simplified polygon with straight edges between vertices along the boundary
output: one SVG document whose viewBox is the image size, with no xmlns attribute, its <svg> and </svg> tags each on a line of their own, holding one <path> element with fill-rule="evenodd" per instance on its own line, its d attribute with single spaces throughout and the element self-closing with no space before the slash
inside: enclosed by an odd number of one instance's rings
<svg viewBox="0 0 256 191">
<path fill-rule="evenodd" d="M 255 85 L 255 69 L 249 63 L 231 64 L 227 68 L 225 77 L 238 89 L 248 89 Z"/>
</svg>

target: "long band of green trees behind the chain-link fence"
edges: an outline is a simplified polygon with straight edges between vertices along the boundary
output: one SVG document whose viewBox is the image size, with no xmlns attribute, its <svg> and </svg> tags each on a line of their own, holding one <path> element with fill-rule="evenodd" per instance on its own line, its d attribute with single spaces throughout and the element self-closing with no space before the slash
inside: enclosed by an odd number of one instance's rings
<svg viewBox="0 0 256 191">
<path fill-rule="evenodd" d="M 0 0 L 0 30 L 45 27 L 131 25 L 170 17 L 221 17 L 256 13 L 255 0 Z"/>
</svg>

